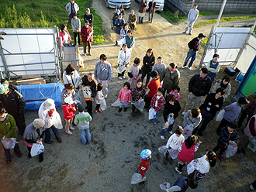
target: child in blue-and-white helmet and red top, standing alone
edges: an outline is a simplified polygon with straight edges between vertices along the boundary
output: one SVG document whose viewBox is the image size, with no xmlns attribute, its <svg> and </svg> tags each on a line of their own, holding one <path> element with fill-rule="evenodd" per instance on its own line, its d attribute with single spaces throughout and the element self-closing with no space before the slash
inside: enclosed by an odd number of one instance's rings
<svg viewBox="0 0 256 192">
<path fill-rule="evenodd" d="M 150 149 L 144 149 L 140 153 L 141 162 L 140 162 L 140 166 L 139 166 L 139 172 L 141 174 L 141 177 L 144 179 L 146 179 L 145 173 L 147 172 L 148 167 L 150 166 L 151 154 L 152 154 L 152 152 L 150 151 Z"/>
</svg>

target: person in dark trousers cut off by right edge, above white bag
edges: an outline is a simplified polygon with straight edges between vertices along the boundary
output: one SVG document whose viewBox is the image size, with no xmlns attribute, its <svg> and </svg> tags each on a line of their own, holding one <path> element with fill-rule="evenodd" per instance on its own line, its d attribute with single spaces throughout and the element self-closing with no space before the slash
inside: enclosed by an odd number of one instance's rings
<svg viewBox="0 0 256 192">
<path fill-rule="evenodd" d="M 242 152 L 245 154 L 244 147 L 246 147 L 249 143 L 249 138 L 254 137 L 256 139 L 256 121 L 255 121 L 256 115 L 253 115 L 249 122 L 247 123 L 245 129 L 244 129 L 244 136 L 238 143 L 237 147 L 237 153 Z"/>
</svg>

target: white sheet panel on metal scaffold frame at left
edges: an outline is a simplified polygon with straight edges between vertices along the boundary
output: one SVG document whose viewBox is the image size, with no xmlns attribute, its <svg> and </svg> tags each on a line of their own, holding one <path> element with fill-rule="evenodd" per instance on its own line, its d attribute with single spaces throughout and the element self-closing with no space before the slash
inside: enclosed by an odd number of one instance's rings
<svg viewBox="0 0 256 192">
<path fill-rule="evenodd" d="M 7 35 L 1 40 L 10 76 L 55 74 L 54 28 L 0 29 Z M 30 64 L 31 63 L 31 64 Z M 5 71 L 0 59 L 0 68 Z"/>
</svg>

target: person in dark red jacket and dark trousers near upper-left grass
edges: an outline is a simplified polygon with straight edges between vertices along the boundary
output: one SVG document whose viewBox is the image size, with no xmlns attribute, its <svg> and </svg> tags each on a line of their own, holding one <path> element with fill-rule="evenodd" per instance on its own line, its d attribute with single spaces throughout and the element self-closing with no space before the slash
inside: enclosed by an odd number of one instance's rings
<svg viewBox="0 0 256 192">
<path fill-rule="evenodd" d="M 84 46 L 84 53 L 86 56 L 86 44 L 88 45 L 88 55 L 92 56 L 92 28 L 89 26 L 89 22 L 85 21 L 85 26 L 81 27 L 81 42 Z"/>
</svg>

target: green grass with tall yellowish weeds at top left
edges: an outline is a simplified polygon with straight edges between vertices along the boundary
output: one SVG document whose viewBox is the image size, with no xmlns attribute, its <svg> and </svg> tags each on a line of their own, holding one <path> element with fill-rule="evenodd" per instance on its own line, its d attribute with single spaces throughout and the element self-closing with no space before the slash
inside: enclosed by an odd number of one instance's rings
<svg viewBox="0 0 256 192">
<path fill-rule="evenodd" d="M 68 12 L 65 6 L 69 1 L 63 0 L 0 0 L 0 28 L 25 28 L 25 27 L 60 27 L 67 24 Z M 75 0 L 79 6 L 78 18 L 81 26 L 84 24 L 83 15 L 86 7 L 91 7 L 92 0 Z M 106 43 L 103 38 L 106 31 L 102 28 L 102 19 L 91 9 L 94 15 L 94 43 Z M 73 37 L 72 27 L 67 26 Z"/>
</svg>

